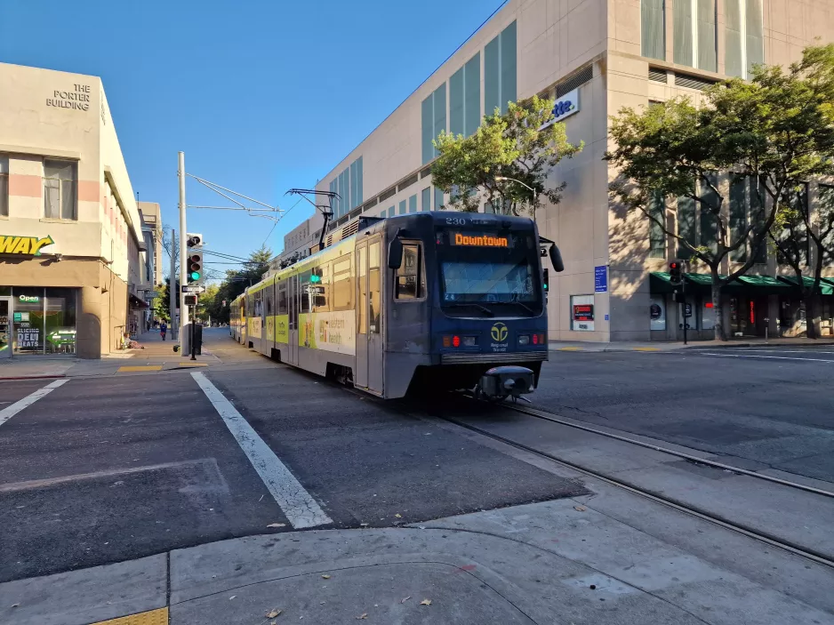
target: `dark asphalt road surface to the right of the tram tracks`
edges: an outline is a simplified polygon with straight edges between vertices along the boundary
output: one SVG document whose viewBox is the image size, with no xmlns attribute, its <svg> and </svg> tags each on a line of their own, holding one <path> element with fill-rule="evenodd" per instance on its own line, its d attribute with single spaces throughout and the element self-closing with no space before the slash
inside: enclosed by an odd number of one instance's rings
<svg viewBox="0 0 834 625">
<path fill-rule="evenodd" d="M 534 405 L 834 482 L 834 348 L 556 352 Z"/>
</svg>

